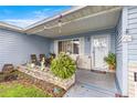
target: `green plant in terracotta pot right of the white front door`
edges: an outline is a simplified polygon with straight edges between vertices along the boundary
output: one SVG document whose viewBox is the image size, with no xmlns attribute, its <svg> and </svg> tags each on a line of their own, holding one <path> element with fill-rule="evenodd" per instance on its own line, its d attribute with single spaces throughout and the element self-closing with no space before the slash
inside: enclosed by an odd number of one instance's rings
<svg viewBox="0 0 137 103">
<path fill-rule="evenodd" d="M 109 70 L 116 69 L 116 55 L 114 53 L 108 53 L 108 55 L 104 58 L 104 61 L 108 64 Z"/>
</svg>

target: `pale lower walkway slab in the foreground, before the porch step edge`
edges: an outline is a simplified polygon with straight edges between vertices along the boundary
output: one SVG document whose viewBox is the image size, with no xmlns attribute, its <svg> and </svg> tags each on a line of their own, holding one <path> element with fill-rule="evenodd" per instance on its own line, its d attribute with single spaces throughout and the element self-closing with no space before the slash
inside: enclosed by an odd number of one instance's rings
<svg viewBox="0 0 137 103">
<path fill-rule="evenodd" d="M 76 82 L 64 97 L 115 97 L 115 92 L 95 85 Z"/>
</svg>

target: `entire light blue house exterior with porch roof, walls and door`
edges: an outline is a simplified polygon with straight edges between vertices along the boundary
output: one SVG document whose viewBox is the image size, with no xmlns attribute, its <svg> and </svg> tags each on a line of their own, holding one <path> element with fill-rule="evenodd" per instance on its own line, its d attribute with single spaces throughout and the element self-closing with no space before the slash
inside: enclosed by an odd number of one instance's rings
<svg viewBox="0 0 137 103">
<path fill-rule="evenodd" d="M 0 69 L 30 60 L 30 54 L 70 52 L 80 68 L 107 71 L 103 59 L 116 54 L 116 85 L 137 96 L 137 7 L 76 7 L 25 29 L 0 23 Z"/>
</svg>

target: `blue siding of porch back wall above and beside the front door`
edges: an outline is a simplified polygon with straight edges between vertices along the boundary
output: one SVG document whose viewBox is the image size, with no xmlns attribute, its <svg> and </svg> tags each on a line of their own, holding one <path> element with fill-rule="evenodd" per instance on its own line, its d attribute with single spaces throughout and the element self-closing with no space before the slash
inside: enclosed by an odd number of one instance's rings
<svg viewBox="0 0 137 103">
<path fill-rule="evenodd" d="M 91 31 L 85 33 L 78 33 L 73 35 L 65 35 L 59 37 L 54 40 L 63 40 L 63 39 L 74 39 L 74 38 L 84 38 L 84 54 L 91 55 L 91 37 L 92 35 L 102 35 L 102 34 L 109 34 L 110 35 L 110 51 L 115 53 L 115 29 L 106 29 L 106 30 L 98 30 L 98 31 Z"/>
</svg>

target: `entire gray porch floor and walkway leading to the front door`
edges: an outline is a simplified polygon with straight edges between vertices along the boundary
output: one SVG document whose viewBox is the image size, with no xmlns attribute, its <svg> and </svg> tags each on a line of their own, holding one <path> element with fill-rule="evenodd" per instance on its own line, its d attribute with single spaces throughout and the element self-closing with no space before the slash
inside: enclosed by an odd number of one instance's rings
<svg viewBox="0 0 137 103">
<path fill-rule="evenodd" d="M 113 97 L 117 92 L 115 73 L 95 73 L 87 70 L 77 70 L 76 83 L 65 97 Z"/>
</svg>

